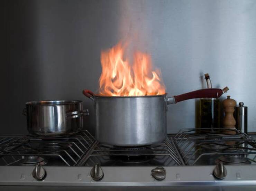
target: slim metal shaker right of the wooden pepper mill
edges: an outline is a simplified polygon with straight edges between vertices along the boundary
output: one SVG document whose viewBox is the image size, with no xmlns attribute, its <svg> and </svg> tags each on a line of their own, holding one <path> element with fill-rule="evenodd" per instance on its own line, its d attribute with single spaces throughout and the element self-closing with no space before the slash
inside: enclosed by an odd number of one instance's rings
<svg viewBox="0 0 256 191">
<path fill-rule="evenodd" d="M 236 128 L 242 133 L 247 133 L 247 106 L 243 102 L 239 103 L 235 109 Z"/>
</svg>

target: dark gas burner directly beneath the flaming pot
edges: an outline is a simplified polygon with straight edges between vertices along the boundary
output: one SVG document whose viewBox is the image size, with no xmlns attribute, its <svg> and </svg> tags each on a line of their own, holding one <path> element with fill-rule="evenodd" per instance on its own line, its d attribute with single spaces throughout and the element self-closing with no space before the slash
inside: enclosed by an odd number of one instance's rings
<svg viewBox="0 0 256 191">
<path fill-rule="evenodd" d="M 112 154 L 122 154 L 110 156 L 110 159 L 118 161 L 119 163 L 143 164 L 155 157 L 152 155 L 154 151 L 149 147 L 114 147 L 113 150 L 116 151 L 112 152 Z"/>
</svg>

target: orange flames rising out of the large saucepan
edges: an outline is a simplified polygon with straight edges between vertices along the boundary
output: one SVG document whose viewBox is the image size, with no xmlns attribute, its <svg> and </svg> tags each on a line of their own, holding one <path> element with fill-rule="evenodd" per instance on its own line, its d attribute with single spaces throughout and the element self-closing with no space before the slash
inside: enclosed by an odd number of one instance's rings
<svg viewBox="0 0 256 191">
<path fill-rule="evenodd" d="M 102 73 L 99 79 L 100 95 L 145 96 L 165 94 L 161 71 L 153 71 L 151 57 L 136 51 L 133 63 L 124 60 L 121 43 L 101 52 Z"/>
</svg>

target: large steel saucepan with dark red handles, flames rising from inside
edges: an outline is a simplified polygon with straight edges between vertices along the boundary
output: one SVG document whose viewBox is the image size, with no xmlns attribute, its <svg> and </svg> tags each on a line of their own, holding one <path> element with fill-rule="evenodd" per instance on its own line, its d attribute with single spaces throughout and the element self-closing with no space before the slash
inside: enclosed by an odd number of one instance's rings
<svg viewBox="0 0 256 191">
<path fill-rule="evenodd" d="M 227 89 L 201 89 L 179 96 L 100 96 L 90 90 L 83 94 L 94 102 L 96 139 L 116 146 L 143 146 L 166 137 L 166 111 L 169 104 L 192 98 L 217 98 Z"/>
</svg>

